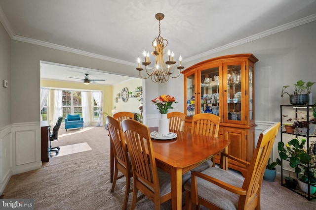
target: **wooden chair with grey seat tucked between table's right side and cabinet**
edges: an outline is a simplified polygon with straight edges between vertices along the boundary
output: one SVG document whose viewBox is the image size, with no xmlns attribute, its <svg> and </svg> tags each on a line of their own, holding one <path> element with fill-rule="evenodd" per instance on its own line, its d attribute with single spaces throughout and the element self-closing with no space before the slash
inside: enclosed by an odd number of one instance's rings
<svg viewBox="0 0 316 210">
<path fill-rule="evenodd" d="M 209 113 L 194 115 L 192 118 L 191 133 L 218 138 L 219 121 L 220 117 Z M 207 160 L 192 171 L 202 171 L 212 166 L 215 166 L 215 155 L 211 160 Z"/>
</svg>

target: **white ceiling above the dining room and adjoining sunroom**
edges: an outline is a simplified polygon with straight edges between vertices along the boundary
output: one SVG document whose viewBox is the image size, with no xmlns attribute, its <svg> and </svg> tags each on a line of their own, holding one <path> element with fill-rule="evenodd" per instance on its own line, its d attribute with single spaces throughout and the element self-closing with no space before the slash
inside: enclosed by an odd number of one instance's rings
<svg viewBox="0 0 316 210">
<path fill-rule="evenodd" d="M 316 0 L 0 0 L 0 21 L 12 39 L 135 67 L 144 50 L 152 51 L 158 12 L 165 15 L 160 35 L 186 66 L 218 48 L 316 20 Z M 76 69 L 82 78 L 86 70 Z"/>
</svg>

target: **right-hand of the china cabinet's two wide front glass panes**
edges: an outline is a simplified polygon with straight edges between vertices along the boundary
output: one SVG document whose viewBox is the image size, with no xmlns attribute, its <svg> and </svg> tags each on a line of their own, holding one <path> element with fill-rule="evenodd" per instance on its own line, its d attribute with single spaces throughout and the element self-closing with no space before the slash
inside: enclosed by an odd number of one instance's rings
<svg viewBox="0 0 316 210">
<path fill-rule="evenodd" d="M 241 120 L 241 65 L 227 65 L 227 120 Z"/>
</svg>

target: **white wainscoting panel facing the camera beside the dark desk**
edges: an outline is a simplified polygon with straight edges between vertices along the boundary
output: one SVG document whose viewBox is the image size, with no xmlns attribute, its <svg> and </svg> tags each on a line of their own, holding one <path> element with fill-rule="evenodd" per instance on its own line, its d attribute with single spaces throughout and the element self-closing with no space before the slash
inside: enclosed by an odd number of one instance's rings
<svg viewBox="0 0 316 210">
<path fill-rule="evenodd" d="M 40 122 L 12 124 L 12 173 L 39 169 L 40 155 Z"/>
</svg>

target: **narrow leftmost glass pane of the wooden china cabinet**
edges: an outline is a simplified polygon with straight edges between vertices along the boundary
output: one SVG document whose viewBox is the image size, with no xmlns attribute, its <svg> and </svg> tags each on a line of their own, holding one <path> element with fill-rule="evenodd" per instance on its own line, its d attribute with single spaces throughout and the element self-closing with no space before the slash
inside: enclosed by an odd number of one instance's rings
<svg viewBox="0 0 316 210">
<path fill-rule="evenodd" d="M 187 116 L 195 114 L 195 74 L 187 76 Z"/>
</svg>

